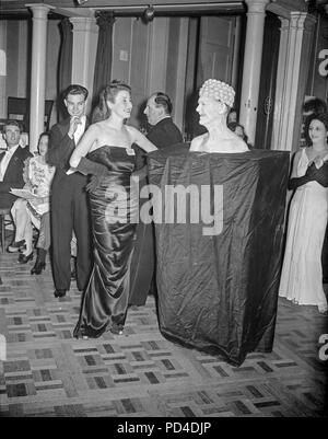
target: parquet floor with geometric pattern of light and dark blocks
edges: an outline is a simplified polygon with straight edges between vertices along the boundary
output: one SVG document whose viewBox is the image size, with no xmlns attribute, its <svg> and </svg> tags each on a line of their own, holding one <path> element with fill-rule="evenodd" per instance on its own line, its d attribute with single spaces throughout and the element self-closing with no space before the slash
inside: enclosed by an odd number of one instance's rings
<svg viewBox="0 0 328 439">
<path fill-rule="evenodd" d="M 75 339 L 81 293 L 55 299 L 49 264 L 0 254 L 0 416 L 326 417 L 327 316 L 279 299 L 273 350 L 241 367 L 165 339 L 155 302 L 131 308 L 124 335 Z M 328 338 L 328 336 L 327 336 Z M 327 339 L 328 342 L 328 339 Z M 321 350 L 320 350 L 321 348 Z"/>
</svg>

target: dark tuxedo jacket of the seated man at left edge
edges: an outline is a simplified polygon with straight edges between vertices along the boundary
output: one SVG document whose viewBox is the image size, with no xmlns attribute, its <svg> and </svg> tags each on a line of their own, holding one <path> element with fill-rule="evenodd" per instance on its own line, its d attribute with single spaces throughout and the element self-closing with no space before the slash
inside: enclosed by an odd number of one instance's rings
<svg viewBox="0 0 328 439">
<path fill-rule="evenodd" d="M 4 157 L 4 152 L 0 155 L 0 162 Z M 21 189 L 25 182 L 23 180 L 23 169 L 25 160 L 32 157 L 28 147 L 19 147 L 13 153 L 10 162 L 8 163 L 3 181 L 0 182 L 0 207 L 11 207 L 16 199 L 12 194 L 9 194 L 11 188 Z"/>
</svg>

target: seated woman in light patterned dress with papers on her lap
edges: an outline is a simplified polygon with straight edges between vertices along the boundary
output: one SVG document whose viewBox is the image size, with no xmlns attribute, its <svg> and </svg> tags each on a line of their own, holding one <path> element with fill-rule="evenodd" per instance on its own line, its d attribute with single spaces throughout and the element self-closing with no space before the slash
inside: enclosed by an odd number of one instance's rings
<svg viewBox="0 0 328 439">
<path fill-rule="evenodd" d="M 39 275 L 45 268 L 46 254 L 50 246 L 49 192 L 55 167 L 46 163 L 49 134 L 43 132 L 38 141 L 38 155 L 30 158 L 24 167 L 25 198 L 19 198 L 11 210 L 15 222 L 15 242 L 25 241 L 25 249 L 19 256 L 19 263 L 26 264 L 33 258 L 33 226 L 39 230 L 37 259 L 31 274 Z M 8 251 L 16 251 L 9 246 Z"/>
</svg>

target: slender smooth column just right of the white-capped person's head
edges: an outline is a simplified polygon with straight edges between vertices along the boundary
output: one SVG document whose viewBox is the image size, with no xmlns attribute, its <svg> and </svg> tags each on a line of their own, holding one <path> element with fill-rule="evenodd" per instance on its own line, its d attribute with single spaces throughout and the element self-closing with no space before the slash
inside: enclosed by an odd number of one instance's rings
<svg viewBox="0 0 328 439">
<path fill-rule="evenodd" d="M 248 5 L 239 122 L 254 143 L 261 71 L 266 5 L 269 0 L 246 0 Z"/>
</svg>

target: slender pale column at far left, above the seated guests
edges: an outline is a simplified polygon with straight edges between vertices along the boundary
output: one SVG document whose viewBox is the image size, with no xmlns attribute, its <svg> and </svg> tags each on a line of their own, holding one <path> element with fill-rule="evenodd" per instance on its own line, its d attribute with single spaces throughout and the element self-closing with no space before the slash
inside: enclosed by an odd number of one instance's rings
<svg viewBox="0 0 328 439">
<path fill-rule="evenodd" d="M 26 4 L 26 7 L 33 13 L 30 149 L 34 151 L 45 126 L 47 24 L 51 7 L 46 4 Z"/>
</svg>

